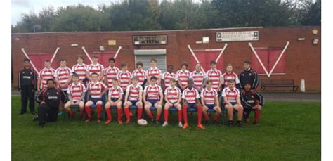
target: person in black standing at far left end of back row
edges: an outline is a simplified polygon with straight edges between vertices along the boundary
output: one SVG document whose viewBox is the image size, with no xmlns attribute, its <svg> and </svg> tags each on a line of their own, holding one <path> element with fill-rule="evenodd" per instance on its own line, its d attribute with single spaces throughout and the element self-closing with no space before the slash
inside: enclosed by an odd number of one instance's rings
<svg viewBox="0 0 333 161">
<path fill-rule="evenodd" d="M 21 112 L 27 112 L 27 101 L 29 99 L 29 109 L 34 114 L 34 91 L 37 90 L 37 74 L 30 66 L 30 60 L 23 60 L 24 67 L 18 72 L 18 90 L 21 92 Z"/>
</svg>

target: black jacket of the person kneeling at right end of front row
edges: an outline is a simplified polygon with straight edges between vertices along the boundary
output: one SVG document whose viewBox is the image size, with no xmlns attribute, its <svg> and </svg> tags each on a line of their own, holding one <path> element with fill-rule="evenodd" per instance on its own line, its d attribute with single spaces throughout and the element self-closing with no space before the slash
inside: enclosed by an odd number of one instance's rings
<svg viewBox="0 0 333 161">
<path fill-rule="evenodd" d="M 242 102 L 243 107 L 247 109 L 254 107 L 254 105 L 256 105 L 256 101 L 259 101 L 259 105 L 261 106 L 263 106 L 263 103 L 265 102 L 263 100 L 263 96 L 255 90 L 242 90 L 240 92 L 240 101 Z"/>
</svg>

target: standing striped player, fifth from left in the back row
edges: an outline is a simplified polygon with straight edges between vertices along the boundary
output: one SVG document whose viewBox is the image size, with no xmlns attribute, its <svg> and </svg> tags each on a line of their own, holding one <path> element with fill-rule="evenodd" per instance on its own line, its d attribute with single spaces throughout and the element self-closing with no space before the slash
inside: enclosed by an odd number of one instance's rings
<svg viewBox="0 0 333 161">
<path fill-rule="evenodd" d="M 112 87 L 113 79 L 115 79 L 119 73 L 119 68 L 115 67 L 115 58 L 109 58 L 109 64 L 110 66 L 105 69 L 104 76 L 105 76 L 105 84 L 107 85 L 107 88 Z"/>
</svg>

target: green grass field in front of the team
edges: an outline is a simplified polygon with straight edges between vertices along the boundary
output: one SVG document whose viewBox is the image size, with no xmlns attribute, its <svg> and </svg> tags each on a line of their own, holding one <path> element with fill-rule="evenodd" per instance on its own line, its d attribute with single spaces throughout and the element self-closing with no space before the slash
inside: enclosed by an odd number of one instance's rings
<svg viewBox="0 0 333 161">
<path fill-rule="evenodd" d="M 320 160 L 320 102 L 266 102 L 259 127 L 204 130 L 195 117 L 178 128 L 176 113 L 169 127 L 60 117 L 41 129 L 19 112 L 20 97 L 12 96 L 13 160 Z"/>
</svg>

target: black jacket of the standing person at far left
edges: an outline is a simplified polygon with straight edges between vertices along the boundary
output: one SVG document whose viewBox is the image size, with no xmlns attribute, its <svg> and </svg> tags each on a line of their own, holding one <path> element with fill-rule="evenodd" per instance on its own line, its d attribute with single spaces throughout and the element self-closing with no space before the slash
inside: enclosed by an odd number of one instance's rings
<svg viewBox="0 0 333 161">
<path fill-rule="evenodd" d="M 34 90 L 37 90 L 37 73 L 29 68 L 21 68 L 18 72 L 18 90 L 22 89 L 22 86 L 32 86 Z"/>
</svg>

